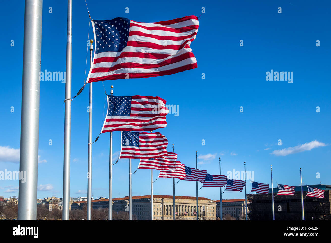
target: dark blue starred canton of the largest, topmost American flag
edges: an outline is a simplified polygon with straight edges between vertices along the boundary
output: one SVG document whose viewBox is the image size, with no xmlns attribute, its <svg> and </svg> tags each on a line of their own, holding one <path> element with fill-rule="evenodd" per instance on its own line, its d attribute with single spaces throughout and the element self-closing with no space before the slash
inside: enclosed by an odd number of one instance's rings
<svg viewBox="0 0 331 243">
<path fill-rule="evenodd" d="M 129 38 L 130 20 L 94 20 L 96 54 L 101 52 L 121 52 Z"/>
</svg>

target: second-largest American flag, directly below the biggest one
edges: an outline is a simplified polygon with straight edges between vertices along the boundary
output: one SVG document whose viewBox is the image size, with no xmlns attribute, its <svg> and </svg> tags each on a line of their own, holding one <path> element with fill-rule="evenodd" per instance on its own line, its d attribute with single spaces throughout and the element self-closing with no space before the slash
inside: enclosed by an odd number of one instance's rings
<svg viewBox="0 0 331 243">
<path fill-rule="evenodd" d="M 108 112 L 101 133 L 144 132 L 166 127 L 166 101 L 153 96 L 107 96 Z"/>
</svg>

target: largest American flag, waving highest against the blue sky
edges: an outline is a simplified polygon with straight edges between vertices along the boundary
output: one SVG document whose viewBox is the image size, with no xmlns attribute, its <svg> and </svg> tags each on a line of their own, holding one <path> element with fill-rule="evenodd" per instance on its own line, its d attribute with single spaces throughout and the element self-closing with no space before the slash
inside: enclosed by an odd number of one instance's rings
<svg viewBox="0 0 331 243">
<path fill-rule="evenodd" d="M 190 48 L 198 17 L 155 23 L 92 20 L 95 52 L 87 83 L 170 75 L 197 67 Z"/>
</svg>

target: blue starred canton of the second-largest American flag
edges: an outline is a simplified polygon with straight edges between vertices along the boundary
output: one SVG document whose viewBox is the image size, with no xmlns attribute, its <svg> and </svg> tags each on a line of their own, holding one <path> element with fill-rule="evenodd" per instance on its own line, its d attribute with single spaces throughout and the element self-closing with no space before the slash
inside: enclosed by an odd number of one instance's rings
<svg viewBox="0 0 331 243">
<path fill-rule="evenodd" d="M 132 96 L 108 96 L 107 116 L 130 116 Z"/>
</svg>

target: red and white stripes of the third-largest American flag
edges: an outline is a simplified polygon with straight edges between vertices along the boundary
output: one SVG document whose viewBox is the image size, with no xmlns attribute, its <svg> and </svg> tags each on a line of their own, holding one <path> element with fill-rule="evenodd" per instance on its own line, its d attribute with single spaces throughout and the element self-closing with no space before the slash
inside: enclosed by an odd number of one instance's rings
<svg viewBox="0 0 331 243">
<path fill-rule="evenodd" d="M 161 133 L 139 133 L 139 147 L 122 145 L 120 158 L 146 159 L 161 157 L 167 154 L 167 145 L 168 140 Z"/>
</svg>

